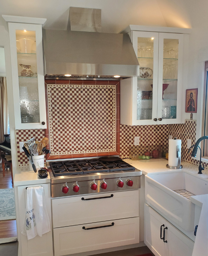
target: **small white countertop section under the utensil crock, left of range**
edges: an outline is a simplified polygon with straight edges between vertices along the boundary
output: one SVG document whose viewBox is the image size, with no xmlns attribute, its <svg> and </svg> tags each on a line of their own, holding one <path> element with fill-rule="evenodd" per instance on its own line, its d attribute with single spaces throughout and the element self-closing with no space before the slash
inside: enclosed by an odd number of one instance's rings
<svg viewBox="0 0 208 256">
<path fill-rule="evenodd" d="M 13 171 L 15 171 L 14 186 L 27 186 L 51 182 L 49 174 L 47 178 L 41 179 L 38 176 L 38 172 L 29 170 L 29 166 L 17 166 L 13 168 Z"/>
</svg>

